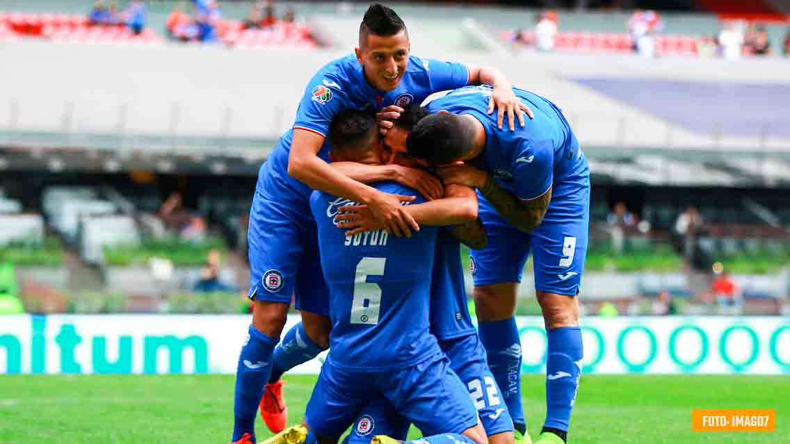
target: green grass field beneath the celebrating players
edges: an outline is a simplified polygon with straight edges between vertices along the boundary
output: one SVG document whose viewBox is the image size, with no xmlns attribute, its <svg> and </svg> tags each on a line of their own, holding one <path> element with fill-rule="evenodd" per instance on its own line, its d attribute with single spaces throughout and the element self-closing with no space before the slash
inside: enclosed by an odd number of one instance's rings
<svg viewBox="0 0 790 444">
<path fill-rule="evenodd" d="M 288 376 L 291 420 L 300 420 L 314 376 Z M 544 376 L 525 375 L 535 436 L 544 420 Z M 0 442 L 228 442 L 232 376 L 0 376 Z M 693 433 L 692 408 L 775 408 L 775 433 Z M 258 419 L 258 437 L 269 432 Z M 413 436 L 418 432 L 412 430 Z M 585 375 L 571 422 L 574 443 L 790 442 L 790 377 Z"/>
</svg>

